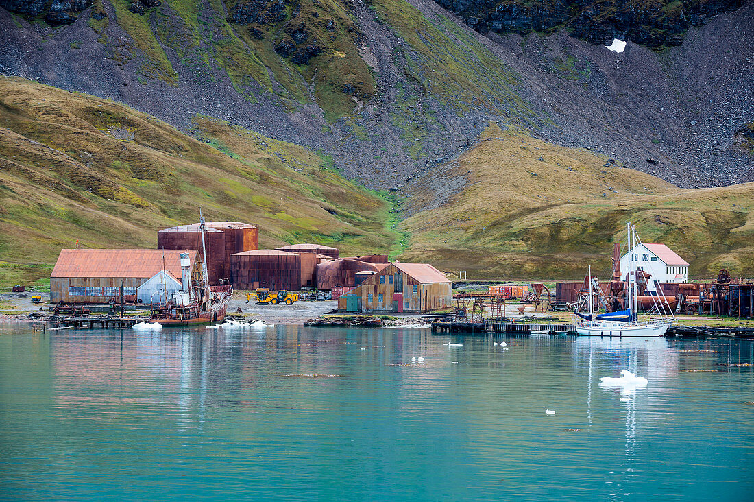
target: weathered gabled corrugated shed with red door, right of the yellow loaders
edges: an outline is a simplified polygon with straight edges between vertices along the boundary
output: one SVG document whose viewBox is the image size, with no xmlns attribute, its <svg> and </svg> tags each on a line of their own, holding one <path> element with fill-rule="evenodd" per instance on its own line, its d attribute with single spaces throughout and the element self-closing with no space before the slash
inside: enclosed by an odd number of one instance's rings
<svg viewBox="0 0 754 502">
<path fill-rule="evenodd" d="M 347 312 L 427 312 L 451 305 L 452 283 L 426 263 L 390 263 L 338 299 Z"/>
</svg>

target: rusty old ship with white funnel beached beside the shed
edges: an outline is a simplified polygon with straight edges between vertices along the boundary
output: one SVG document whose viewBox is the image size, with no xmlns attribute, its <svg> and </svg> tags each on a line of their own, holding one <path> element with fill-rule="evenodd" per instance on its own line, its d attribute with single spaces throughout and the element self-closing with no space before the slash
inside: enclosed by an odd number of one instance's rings
<svg viewBox="0 0 754 502">
<path fill-rule="evenodd" d="M 207 322 L 222 322 L 228 303 L 233 296 L 233 286 L 210 286 L 207 274 L 207 247 L 204 245 L 204 216 L 199 212 L 201 231 L 201 282 L 192 284 L 189 253 L 181 253 L 182 288 L 164 303 L 152 309 L 149 322 L 164 326 L 188 326 Z"/>
</svg>

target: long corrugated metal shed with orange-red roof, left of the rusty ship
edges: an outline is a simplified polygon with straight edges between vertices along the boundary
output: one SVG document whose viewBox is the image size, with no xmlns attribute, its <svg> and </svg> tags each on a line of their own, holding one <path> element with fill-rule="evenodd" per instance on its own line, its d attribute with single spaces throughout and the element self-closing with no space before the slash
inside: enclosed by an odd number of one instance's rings
<svg viewBox="0 0 754 502">
<path fill-rule="evenodd" d="M 195 249 L 63 249 L 50 276 L 50 301 L 107 303 L 120 297 L 121 284 L 123 294 L 137 294 L 163 266 L 180 277 L 183 252 L 189 253 L 195 276 L 201 269 Z"/>
</svg>

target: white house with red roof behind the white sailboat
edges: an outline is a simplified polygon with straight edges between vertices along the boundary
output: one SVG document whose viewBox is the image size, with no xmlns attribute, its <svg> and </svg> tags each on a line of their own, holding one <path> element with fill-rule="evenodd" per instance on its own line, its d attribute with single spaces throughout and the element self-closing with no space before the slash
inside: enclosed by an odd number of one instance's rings
<svg viewBox="0 0 754 502">
<path fill-rule="evenodd" d="M 657 283 L 688 282 L 688 262 L 664 244 L 642 243 L 621 257 L 621 273 L 629 269 L 630 254 L 633 266 L 651 276 L 648 291 L 657 291 Z"/>
</svg>

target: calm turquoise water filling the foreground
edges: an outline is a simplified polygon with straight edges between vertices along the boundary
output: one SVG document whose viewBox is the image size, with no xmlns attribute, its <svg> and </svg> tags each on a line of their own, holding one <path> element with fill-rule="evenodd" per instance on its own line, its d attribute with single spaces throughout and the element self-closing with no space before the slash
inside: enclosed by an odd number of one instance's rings
<svg viewBox="0 0 754 502">
<path fill-rule="evenodd" d="M 752 341 L 494 340 L 0 325 L 0 498 L 752 500 Z"/>
</svg>

